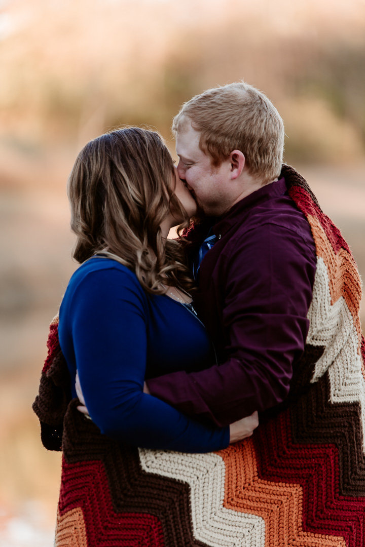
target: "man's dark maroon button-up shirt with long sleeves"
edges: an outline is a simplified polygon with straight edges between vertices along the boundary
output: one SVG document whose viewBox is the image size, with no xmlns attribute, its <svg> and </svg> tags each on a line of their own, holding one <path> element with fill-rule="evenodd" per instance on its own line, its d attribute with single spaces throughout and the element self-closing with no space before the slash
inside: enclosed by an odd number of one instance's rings
<svg viewBox="0 0 365 547">
<path fill-rule="evenodd" d="M 212 233 L 217 242 L 202 260 L 194 303 L 218 364 L 148 387 L 186 414 L 225 426 L 286 398 L 308 333 L 316 249 L 284 179 L 236 203 Z"/>
</svg>

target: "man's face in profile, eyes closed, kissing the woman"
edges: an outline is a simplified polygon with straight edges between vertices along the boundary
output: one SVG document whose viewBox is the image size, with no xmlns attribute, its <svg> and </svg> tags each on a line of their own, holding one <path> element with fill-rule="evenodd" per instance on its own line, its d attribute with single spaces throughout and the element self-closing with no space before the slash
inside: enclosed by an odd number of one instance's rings
<svg viewBox="0 0 365 547">
<path fill-rule="evenodd" d="M 231 206 L 228 189 L 230 162 L 212 166 L 210 156 L 199 148 L 200 133 L 186 121 L 176 133 L 177 171 L 207 216 L 221 216 Z"/>
</svg>

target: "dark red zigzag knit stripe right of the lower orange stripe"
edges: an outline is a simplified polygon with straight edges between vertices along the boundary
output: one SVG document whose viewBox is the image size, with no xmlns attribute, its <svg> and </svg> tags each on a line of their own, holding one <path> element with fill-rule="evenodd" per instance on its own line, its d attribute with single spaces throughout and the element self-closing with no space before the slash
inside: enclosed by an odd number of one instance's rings
<svg viewBox="0 0 365 547">
<path fill-rule="evenodd" d="M 304 531 L 342 536 L 348 547 L 364 547 L 365 497 L 341 495 L 338 447 L 295 444 L 291 425 L 287 410 L 254 435 L 260 478 L 302 486 Z M 309 441 L 310 429 L 307 434 Z"/>
</svg>

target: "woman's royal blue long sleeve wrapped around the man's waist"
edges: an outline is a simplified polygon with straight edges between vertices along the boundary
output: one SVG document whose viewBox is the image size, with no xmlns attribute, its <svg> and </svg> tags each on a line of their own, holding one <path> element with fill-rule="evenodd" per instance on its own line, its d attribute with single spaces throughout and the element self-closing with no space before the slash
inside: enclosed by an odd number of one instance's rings
<svg viewBox="0 0 365 547">
<path fill-rule="evenodd" d="M 100 260 L 99 268 L 86 263 L 74 274 L 60 310 L 61 348 L 72 378 L 77 367 L 92 421 L 109 437 L 137 446 L 185 452 L 226 447 L 229 428 L 205 426 L 143 393 L 148 296 L 132 272 Z"/>
</svg>

